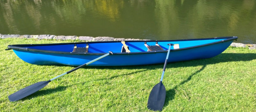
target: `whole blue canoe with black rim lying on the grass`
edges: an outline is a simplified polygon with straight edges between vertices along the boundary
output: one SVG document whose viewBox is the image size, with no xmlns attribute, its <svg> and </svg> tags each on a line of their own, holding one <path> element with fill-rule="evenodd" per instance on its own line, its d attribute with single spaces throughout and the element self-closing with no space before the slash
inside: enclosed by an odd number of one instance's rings
<svg viewBox="0 0 256 112">
<path fill-rule="evenodd" d="M 164 63 L 169 43 L 168 62 L 206 59 L 217 56 L 237 37 L 215 37 L 185 40 L 138 40 L 75 42 L 58 44 L 9 45 L 8 50 L 25 62 L 36 65 L 63 64 L 80 66 L 101 55 L 113 52 L 88 66 L 129 66 Z"/>
</svg>

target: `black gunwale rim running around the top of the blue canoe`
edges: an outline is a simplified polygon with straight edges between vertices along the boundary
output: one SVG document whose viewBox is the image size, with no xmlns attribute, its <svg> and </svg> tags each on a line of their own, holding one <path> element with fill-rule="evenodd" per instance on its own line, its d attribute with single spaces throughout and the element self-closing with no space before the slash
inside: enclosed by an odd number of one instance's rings
<svg viewBox="0 0 256 112">
<path fill-rule="evenodd" d="M 184 47 L 184 48 L 179 48 L 179 49 L 172 49 L 171 51 L 180 51 L 180 50 L 185 50 L 185 49 L 192 49 L 196 47 L 203 47 L 203 46 L 209 46 L 213 44 L 218 44 L 218 43 L 224 43 L 227 41 L 233 41 L 236 40 L 238 37 L 233 36 L 233 37 L 215 37 L 215 38 L 203 38 L 203 39 L 182 39 L 182 40 L 128 40 L 125 42 L 172 42 L 172 41 L 193 41 L 193 40 L 210 40 L 210 39 L 225 39 L 217 42 L 212 42 L 208 44 L 202 44 L 198 46 L 191 46 L 191 47 Z M 60 53 L 60 54 L 78 54 L 78 55 L 103 55 L 105 53 L 72 53 L 72 52 L 62 52 L 62 51 L 50 51 L 50 50 L 40 50 L 40 49 L 32 49 L 28 47 L 23 47 L 23 46 L 50 46 L 50 45 L 70 45 L 70 44 L 89 44 L 89 43 L 118 43 L 121 41 L 97 41 L 97 42 L 73 42 L 73 43 L 53 43 L 53 44 L 19 44 L 19 45 L 8 45 L 7 50 L 23 50 L 23 51 L 33 51 L 33 52 L 44 52 L 44 53 Z M 127 54 L 143 54 L 143 53 L 163 53 L 167 52 L 168 50 L 164 51 L 146 51 L 146 52 L 128 52 L 128 53 L 113 53 L 113 55 L 127 55 Z"/>
</svg>

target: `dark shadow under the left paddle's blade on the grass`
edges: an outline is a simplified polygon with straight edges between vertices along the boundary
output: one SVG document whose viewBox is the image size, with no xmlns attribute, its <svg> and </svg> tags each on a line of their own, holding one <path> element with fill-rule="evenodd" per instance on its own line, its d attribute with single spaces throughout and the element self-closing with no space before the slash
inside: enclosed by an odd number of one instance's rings
<svg viewBox="0 0 256 112">
<path fill-rule="evenodd" d="M 33 93 L 33 94 L 21 99 L 21 101 L 25 101 L 25 100 L 28 100 L 28 99 L 33 99 L 34 97 L 43 96 L 43 95 L 46 95 L 46 94 L 52 94 L 52 93 L 55 93 L 55 92 L 64 91 L 68 87 L 70 87 L 70 86 L 58 86 L 57 88 L 39 90 L 36 93 Z"/>
</svg>

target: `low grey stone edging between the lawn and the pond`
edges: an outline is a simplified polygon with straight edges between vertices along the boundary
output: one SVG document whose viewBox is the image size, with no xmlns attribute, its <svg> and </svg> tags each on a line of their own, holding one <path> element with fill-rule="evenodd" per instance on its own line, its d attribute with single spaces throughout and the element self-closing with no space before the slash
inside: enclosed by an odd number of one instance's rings
<svg viewBox="0 0 256 112">
<path fill-rule="evenodd" d="M 141 39 L 124 39 L 124 38 L 113 38 L 113 37 L 86 37 L 86 36 L 55 36 L 55 35 L 2 35 L 1 39 L 5 38 L 27 38 L 27 39 L 61 39 L 61 40 L 83 40 L 83 41 L 124 41 L 124 40 L 141 40 Z M 230 46 L 233 47 L 246 47 L 249 49 L 256 49 L 256 44 L 242 44 L 242 43 L 232 43 Z"/>
</svg>

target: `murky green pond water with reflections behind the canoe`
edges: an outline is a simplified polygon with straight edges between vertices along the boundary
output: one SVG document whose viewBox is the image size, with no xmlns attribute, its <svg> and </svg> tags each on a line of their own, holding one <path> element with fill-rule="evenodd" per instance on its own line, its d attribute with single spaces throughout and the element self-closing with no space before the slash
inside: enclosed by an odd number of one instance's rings
<svg viewBox="0 0 256 112">
<path fill-rule="evenodd" d="M 0 0 L 1 34 L 256 44 L 256 0 Z"/>
</svg>

